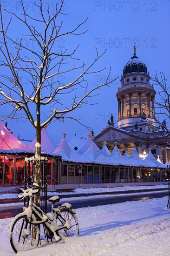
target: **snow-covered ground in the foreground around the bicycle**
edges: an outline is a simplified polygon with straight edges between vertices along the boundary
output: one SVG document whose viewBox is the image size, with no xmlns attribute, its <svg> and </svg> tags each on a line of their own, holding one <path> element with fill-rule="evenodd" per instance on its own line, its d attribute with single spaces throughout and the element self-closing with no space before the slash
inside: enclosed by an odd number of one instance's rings
<svg viewBox="0 0 170 256">
<path fill-rule="evenodd" d="M 168 196 L 76 209 L 80 233 L 47 243 L 19 256 L 170 256 Z M 15 255 L 9 242 L 13 218 L 0 220 L 0 255 Z"/>
</svg>

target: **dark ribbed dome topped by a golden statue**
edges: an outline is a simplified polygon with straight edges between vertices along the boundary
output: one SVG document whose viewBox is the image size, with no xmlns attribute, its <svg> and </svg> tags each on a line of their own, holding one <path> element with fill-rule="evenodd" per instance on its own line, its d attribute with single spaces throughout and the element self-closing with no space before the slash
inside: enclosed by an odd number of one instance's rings
<svg viewBox="0 0 170 256">
<path fill-rule="evenodd" d="M 139 60 L 139 58 L 136 56 L 136 47 L 134 46 L 134 54 L 133 57 L 131 57 L 131 60 L 129 60 L 126 65 L 124 66 L 123 75 L 130 74 L 133 72 L 142 72 L 147 74 L 147 67 L 144 61 Z"/>
</svg>

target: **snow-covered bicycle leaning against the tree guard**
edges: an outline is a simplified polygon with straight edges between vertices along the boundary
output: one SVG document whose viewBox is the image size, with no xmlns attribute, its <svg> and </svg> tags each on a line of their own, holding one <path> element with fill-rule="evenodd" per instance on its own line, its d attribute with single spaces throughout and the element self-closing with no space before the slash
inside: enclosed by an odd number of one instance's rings
<svg viewBox="0 0 170 256">
<path fill-rule="evenodd" d="M 20 250 L 28 250 L 39 244 L 40 224 L 44 226 L 46 237 L 59 242 L 63 236 L 78 235 L 79 225 L 76 212 L 70 203 L 64 203 L 54 208 L 54 203 L 59 202 L 59 196 L 52 196 L 48 201 L 52 202 L 51 215 L 44 213 L 33 202 L 33 195 L 39 193 L 40 187 L 33 183 L 31 189 L 20 189 L 20 199 L 29 197 L 28 207 L 23 208 L 23 213 L 13 218 L 10 227 L 10 243 L 15 253 Z M 22 195 L 20 193 L 22 192 Z"/>
</svg>

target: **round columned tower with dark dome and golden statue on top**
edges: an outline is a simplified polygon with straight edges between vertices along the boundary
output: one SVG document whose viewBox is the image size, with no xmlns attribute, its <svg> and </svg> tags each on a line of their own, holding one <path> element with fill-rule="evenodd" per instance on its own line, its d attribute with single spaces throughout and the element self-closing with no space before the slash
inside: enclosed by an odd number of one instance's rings
<svg viewBox="0 0 170 256">
<path fill-rule="evenodd" d="M 118 98 L 118 128 L 132 130 L 134 123 L 141 131 L 150 129 L 147 123 L 155 124 L 154 99 L 156 91 L 150 85 L 150 75 L 143 61 L 136 56 L 136 47 L 131 60 L 124 66 Z M 148 122 L 145 121 L 147 118 Z M 142 122 L 142 123 L 141 123 Z"/>
</svg>

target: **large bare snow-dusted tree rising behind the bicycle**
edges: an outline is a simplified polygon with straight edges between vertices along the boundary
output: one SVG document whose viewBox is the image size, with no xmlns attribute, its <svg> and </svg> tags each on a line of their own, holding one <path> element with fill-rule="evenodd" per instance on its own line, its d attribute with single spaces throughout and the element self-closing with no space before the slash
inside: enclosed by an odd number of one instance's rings
<svg viewBox="0 0 170 256">
<path fill-rule="evenodd" d="M 63 31 L 63 22 L 60 22 L 60 17 L 65 15 L 62 11 L 63 0 L 55 3 L 55 10 L 51 11 L 50 6 L 47 3 L 46 10 L 43 9 L 42 0 L 39 0 L 39 4 L 35 5 L 36 10 L 34 16 L 31 16 L 24 7 L 24 2 L 21 0 L 20 6 L 22 7 L 22 15 L 18 16 L 9 10 L 2 10 L 0 8 L 1 18 L 1 47 L 0 52 L 2 55 L 0 66 L 8 68 L 9 75 L 2 78 L 6 79 L 6 82 L 1 80 L 0 94 L 3 96 L 0 105 L 10 104 L 12 107 L 11 113 L 8 115 L 10 118 L 15 118 L 17 111 L 24 111 L 26 118 L 31 122 L 36 130 L 35 144 L 35 158 L 37 162 L 40 162 L 41 152 L 41 129 L 50 124 L 53 118 L 63 119 L 73 118 L 67 114 L 81 107 L 83 104 L 88 104 L 88 98 L 95 96 L 92 94 L 95 90 L 109 86 L 112 81 L 109 81 L 111 74 L 111 68 L 106 76 L 106 81 L 100 84 L 98 87 L 92 87 L 88 85 L 87 76 L 95 73 L 101 73 L 105 70 L 94 71 L 93 66 L 99 61 L 105 54 L 98 54 L 96 50 L 96 58 L 91 64 L 86 67 L 83 62 L 79 66 L 74 65 L 73 62 L 78 62 L 79 59 L 75 57 L 78 46 L 69 53 L 67 49 L 64 51 L 54 47 L 56 40 L 61 37 L 78 36 L 84 34 L 86 31 L 79 32 L 82 25 L 86 20 L 78 24 L 77 27 L 71 31 Z M 7 26 L 4 26 L 4 12 L 9 13 L 18 22 L 21 22 L 25 26 L 26 34 L 29 40 L 36 42 L 36 48 L 25 47 L 20 41 L 16 41 L 8 35 L 9 27 L 12 24 L 12 18 L 9 20 Z M 60 23 L 59 23 L 60 22 Z M 23 36 L 23 35 L 22 35 Z M 12 51 L 9 48 L 9 42 L 15 44 L 16 47 Z M 71 61 L 71 62 L 70 62 Z M 70 66 L 67 65 L 71 63 Z M 73 63 L 73 64 L 72 64 Z M 61 84 L 58 77 L 61 74 L 70 74 L 75 71 L 77 76 L 69 83 Z M 29 77 L 29 84 L 23 85 L 20 79 L 21 75 L 26 74 Z M 73 76 L 72 76 L 73 77 Z M 114 80 L 113 80 L 114 81 Z M 12 85 L 12 86 L 11 86 Z M 90 87 L 90 88 L 89 88 Z M 81 94 L 79 93 L 79 89 Z M 77 90 L 77 91 L 76 91 Z M 75 91 L 75 93 L 74 93 Z M 66 94 L 74 93 L 72 101 L 68 102 L 65 106 L 63 98 Z M 71 97 L 67 96 L 71 99 Z M 41 121 L 42 108 L 52 107 L 53 110 L 49 112 L 46 121 Z M 32 110 L 34 108 L 34 111 Z M 34 116 L 32 113 L 36 113 Z M 6 117 L 7 118 L 7 117 Z M 37 166 L 36 173 L 34 174 L 35 182 L 40 182 L 40 167 Z"/>
</svg>

